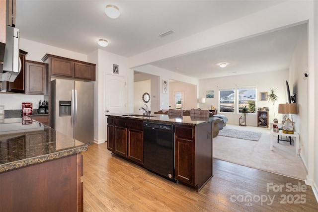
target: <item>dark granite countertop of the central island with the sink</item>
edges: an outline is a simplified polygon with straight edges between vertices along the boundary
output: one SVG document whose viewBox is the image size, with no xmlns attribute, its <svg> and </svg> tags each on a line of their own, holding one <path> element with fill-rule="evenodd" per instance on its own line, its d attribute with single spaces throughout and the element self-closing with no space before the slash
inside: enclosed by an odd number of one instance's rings
<svg viewBox="0 0 318 212">
<path fill-rule="evenodd" d="M 176 125 L 190 125 L 197 126 L 207 122 L 214 122 L 220 118 L 210 117 L 210 118 L 199 118 L 199 117 L 190 117 L 190 116 L 169 116 L 165 114 L 151 114 L 150 116 L 142 116 L 141 114 L 117 114 L 117 115 L 106 115 L 109 117 L 121 117 L 127 119 L 137 119 L 148 122 L 158 122 L 166 124 L 176 124 Z"/>
</svg>

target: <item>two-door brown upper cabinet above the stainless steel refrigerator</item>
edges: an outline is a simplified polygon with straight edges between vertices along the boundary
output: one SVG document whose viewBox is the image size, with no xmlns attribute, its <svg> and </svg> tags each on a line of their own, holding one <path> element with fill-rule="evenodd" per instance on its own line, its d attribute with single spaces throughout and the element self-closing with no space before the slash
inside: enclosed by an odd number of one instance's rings
<svg viewBox="0 0 318 212">
<path fill-rule="evenodd" d="M 49 64 L 49 73 L 52 76 L 84 81 L 95 80 L 95 64 L 49 54 L 46 54 L 42 61 Z"/>
</svg>

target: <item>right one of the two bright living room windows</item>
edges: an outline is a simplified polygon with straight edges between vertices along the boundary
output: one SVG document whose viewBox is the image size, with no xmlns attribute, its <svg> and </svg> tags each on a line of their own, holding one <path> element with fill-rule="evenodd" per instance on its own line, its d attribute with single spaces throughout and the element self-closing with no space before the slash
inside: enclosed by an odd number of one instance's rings
<svg viewBox="0 0 318 212">
<path fill-rule="evenodd" d="M 246 106 L 248 113 L 255 113 L 256 88 L 245 87 L 238 88 L 238 111 L 242 112 L 242 108 Z"/>
</svg>

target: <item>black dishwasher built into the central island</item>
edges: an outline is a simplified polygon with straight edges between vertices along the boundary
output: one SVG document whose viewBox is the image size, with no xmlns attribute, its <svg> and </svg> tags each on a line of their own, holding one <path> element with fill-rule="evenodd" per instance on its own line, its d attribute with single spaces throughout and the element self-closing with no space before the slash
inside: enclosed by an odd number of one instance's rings
<svg viewBox="0 0 318 212">
<path fill-rule="evenodd" d="M 174 178 L 174 125 L 144 122 L 144 168 Z"/>
</svg>

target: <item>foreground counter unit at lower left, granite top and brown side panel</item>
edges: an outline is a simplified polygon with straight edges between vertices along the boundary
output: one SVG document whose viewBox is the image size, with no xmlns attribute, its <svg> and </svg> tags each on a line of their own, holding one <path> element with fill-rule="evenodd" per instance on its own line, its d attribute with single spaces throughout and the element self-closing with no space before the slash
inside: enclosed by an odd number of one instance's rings
<svg viewBox="0 0 318 212">
<path fill-rule="evenodd" d="M 37 121 L 0 124 L 0 211 L 83 211 L 87 144 Z"/>
</svg>

